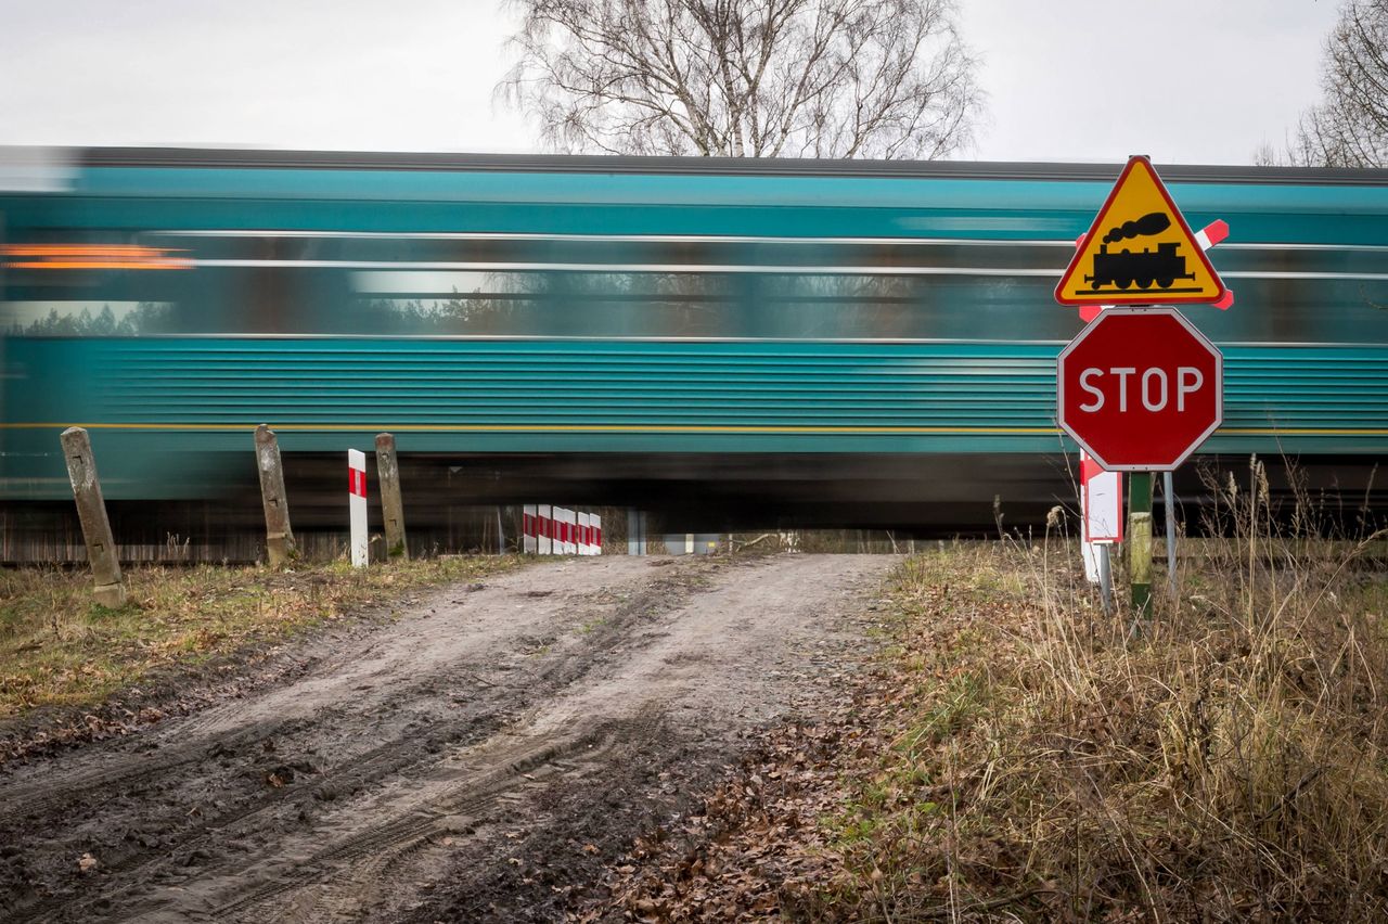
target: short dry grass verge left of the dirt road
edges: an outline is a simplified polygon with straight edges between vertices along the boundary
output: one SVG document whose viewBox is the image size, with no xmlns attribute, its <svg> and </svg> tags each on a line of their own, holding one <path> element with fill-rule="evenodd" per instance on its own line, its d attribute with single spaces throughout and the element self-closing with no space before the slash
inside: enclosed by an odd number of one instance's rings
<svg viewBox="0 0 1388 924">
<path fill-rule="evenodd" d="M 291 573 L 137 567 L 125 574 L 130 604 L 118 610 L 92 602 L 85 570 L 3 570 L 0 719 L 96 703 L 160 669 L 282 640 L 412 588 L 475 580 L 522 561 L 440 558 L 361 570 L 336 562 Z"/>
</svg>

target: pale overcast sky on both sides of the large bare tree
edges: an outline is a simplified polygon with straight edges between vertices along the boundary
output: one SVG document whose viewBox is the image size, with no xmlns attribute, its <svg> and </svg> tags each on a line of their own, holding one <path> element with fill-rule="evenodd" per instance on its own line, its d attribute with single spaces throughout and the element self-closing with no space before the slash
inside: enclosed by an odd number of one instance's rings
<svg viewBox="0 0 1388 924">
<path fill-rule="evenodd" d="M 979 160 L 1248 164 L 1338 0 L 959 0 Z M 0 0 L 0 144 L 533 151 L 496 0 Z"/>
</svg>

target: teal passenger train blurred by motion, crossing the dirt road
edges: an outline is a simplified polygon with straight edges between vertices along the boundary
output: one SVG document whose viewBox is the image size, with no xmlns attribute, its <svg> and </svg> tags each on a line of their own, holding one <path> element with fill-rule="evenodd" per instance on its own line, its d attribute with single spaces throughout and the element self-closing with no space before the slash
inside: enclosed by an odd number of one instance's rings
<svg viewBox="0 0 1388 924">
<path fill-rule="evenodd" d="M 1185 309 L 1226 355 L 1203 452 L 1363 490 L 1388 450 L 1388 171 L 1160 172 L 1191 226 L 1233 229 L 1212 259 L 1237 305 Z M 0 512 L 68 509 L 58 433 L 82 425 L 108 501 L 164 511 L 149 529 L 254 524 L 269 423 L 337 519 L 343 451 L 390 430 L 422 529 L 534 499 L 922 534 L 991 527 L 1001 497 L 1034 522 L 1073 498 L 1055 357 L 1080 320 L 1052 289 L 1117 173 L 6 151 Z"/>
</svg>

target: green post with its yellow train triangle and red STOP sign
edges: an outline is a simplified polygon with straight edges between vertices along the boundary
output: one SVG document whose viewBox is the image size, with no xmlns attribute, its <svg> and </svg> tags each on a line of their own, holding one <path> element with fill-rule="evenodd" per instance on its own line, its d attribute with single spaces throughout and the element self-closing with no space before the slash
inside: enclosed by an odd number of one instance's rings
<svg viewBox="0 0 1388 924">
<path fill-rule="evenodd" d="M 1165 304 L 1233 301 L 1145 157 L 1128 158 L 1055 289 L 1063 305 L 1103 311 L 1060 351 L 1056 419 L 1098 463 L 1131 472 L 1128 562 L 1133 606 L 1152 599 L 1152 472 L 1171 472 L 1223 422 L 1219 350 Z M 1203 237 L 1202 237 L 1203 236 Z"/>
</svg>

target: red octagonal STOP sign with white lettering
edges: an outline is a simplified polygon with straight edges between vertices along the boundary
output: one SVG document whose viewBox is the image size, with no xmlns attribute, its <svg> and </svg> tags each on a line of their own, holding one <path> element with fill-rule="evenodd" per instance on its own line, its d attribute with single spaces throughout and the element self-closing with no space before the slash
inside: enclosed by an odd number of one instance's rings
<svg viewBox="0 0 1388 924">
<path fill-rule="evenodd" d="M 1169 472 L 1223 420 L 1223 377 L 1174 308 L 1106 308 L 1060 351 L 1056 416 L 1110 472 Z"/>
</svg>

